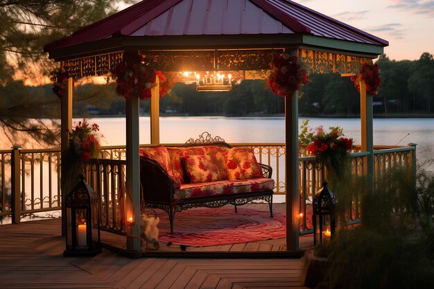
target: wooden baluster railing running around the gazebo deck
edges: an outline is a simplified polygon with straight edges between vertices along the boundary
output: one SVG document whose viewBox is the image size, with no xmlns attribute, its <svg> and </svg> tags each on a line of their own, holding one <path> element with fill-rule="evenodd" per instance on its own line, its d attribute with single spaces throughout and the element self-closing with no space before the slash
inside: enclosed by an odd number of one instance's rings
<svg viewBox="0 0 434 289">
<path fill-rule="evenodd" d="M 146 145 L 150 146 L 150 145 Z M 166 146 L 180 146 L 167 144 Z M 236 147 L 252 148 L 259 162 L 273 168 L 275 194 L 285 195 L 285 146 L 284 143 L 232 143 Z M 394 166 L 410 166 L 416 168 L 415 146 L 381 147 L 374 150 L 374 177 L 379 177 L 388 168 Z M 311 202 L 315 193 L 321 188 L 324 180 L 322 165 L 315 157 L 306 157 L 304 147 L 300 147 L 299 157 L 299 192 L 300 220 L 302 234 L 311 231 Z M 354 147 L 351 153 L 352 175 L 364 175 L 366 171 L 365 157 L 369 152 L 359 152 Z M 121 195 L 121 184 L 125 177 L 125 147 L 105 146 L 101 148 L 98 164 L 88 168 L 87 182 L 94 189 L 101 191 L 101 208 L 103 228 L 122 233 L 125 231 L 125 220 L 121 218 L 120 200 L 126 202 Z M 98 166 L 98 169 L 96 169 Z M 0 222 L 3 217 L 19 222 L 22 216 L 35 216 L 36 213 L 53 214 L 60 211 L 60 150 L 12 150 L 0 151 Z M 96 173 L 98 172 L 98 173 Z M 347 222 L 360 220 L 360 197 L 356 191 L 351 192 L 348 203 Z M 58 213 L 60 216 L 60 213 Z"/>
</svg>

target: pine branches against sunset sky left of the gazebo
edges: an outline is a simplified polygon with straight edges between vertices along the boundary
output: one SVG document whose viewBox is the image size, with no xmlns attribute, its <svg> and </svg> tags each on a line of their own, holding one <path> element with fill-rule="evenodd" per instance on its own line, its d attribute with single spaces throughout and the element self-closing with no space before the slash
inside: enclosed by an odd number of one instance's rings
<svg viewBox="0 0 434 289">
<path fill-rule="evenodd" d="M 3 139 L 8 139 L 10 144 L 58 145 L 58 123 L 42 120 L 59 117 L 58 99 L 53 98 L 52 93 L 47 94 L 44 88 L 26 87 L 24 80 L 38 83 L 53 69 L 54 62 L 43 52 L 45 44 L 107 17 L 119 2 L 0 0 L 0 131 L 5 136 Z M 36 142 L 29 141 L 29 137 Z"/>
</svg>

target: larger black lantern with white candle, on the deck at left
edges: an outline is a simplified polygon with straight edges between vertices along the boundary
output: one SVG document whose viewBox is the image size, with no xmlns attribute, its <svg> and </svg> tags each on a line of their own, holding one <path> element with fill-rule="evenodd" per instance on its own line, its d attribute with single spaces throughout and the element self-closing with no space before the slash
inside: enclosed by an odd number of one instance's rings
<svg viewBox="0 0 434 289">
<path fill-rule="evenodd" d="M 67 249 L 63 256 L 94 256 L 101 252 L 99 198 L 80 175 L 67 195 Z"/>
</svg>

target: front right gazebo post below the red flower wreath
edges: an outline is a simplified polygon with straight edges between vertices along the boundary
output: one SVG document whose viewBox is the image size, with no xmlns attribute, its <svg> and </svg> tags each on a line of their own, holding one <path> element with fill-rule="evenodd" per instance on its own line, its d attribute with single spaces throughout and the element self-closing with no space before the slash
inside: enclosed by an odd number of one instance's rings
<svg viewBox="0 0 434 289">
<path fill-rule="evenodd" d="M 296 51 L 295 51 L 296 53 Z M 299 249 L 298 91 L 285 99 L 286 249 Z"/>
</svg>

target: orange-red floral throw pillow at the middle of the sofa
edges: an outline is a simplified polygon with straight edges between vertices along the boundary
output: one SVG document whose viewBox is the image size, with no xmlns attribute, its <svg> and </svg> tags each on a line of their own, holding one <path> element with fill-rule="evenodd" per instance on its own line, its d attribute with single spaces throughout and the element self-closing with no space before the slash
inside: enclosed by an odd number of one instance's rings
<svg viewBox="0 0 434 289">
<path fill-rule="evenodd" d="M 191 183 L 214 182 L 220 180 L 218 167 L 209 155 L 188 155 L 182 158 Z"/>
</svg>

